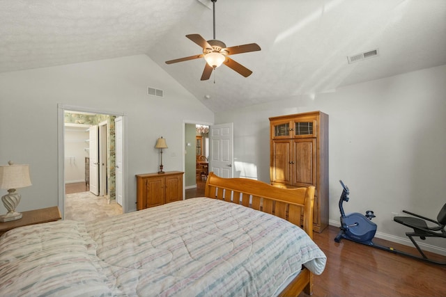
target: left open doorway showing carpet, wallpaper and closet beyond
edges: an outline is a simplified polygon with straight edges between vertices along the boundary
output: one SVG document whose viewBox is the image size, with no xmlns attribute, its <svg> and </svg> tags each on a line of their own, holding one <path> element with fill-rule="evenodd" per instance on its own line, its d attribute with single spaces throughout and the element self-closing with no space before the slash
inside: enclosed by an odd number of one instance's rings
<svg viewBox="0 0 446 297">
<path fill-rule="evenodd" d="M 123 180 L 116 180 L 116 118 L 125 116 L 59 106 L 59 161 L 63 159 L 59 162 L 59 209 L 63 218 L 85 221 L 125 212 L 125 195 L 116 193 L 116 184 L 119 191 L 126 188 Z M 124 154 L 122 148 L 118 153 Z M 121 179 L 124 159 L 121 155 Z M 120 204 L 116 203 L 118 194 Z"/>
</svg>

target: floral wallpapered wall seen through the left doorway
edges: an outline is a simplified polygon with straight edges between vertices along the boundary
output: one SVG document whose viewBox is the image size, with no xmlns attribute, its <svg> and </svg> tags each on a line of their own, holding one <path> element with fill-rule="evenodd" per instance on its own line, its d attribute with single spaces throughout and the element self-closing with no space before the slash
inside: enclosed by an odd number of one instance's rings
<svg viewBox="0 0 446 297">
<path fill-rule="evenodd" d="M 109 201 L 116 200 L 116 150 L 115 150 L 115 129 L 114 115 L 87 115 L 83 113 L 65 113 L 65 122 L 70 124 L 98 125 L 100 122 L 107 122 L 107 193 Z"/>
</svg>

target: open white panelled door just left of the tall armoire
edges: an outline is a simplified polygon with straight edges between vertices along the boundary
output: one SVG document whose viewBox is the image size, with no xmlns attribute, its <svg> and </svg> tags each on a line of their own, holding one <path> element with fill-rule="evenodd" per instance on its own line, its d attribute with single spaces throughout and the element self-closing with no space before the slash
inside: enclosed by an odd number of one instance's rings
<svg viewBox="0 0 446 297">
<path fill-rule="evenodd" d="M 209 127 L 209 172 L 233 177 L 233 123 Z"/>
</svg>

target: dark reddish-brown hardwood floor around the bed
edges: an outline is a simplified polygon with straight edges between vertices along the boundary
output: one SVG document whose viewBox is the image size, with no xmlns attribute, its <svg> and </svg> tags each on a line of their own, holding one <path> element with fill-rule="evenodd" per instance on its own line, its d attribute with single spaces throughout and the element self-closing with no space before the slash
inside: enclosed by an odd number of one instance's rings
<svg viewBox="0 0 446 297">
<path fill-rule="evenodd" d="M 185 191 L 186 199 L 202 197 L 205 184 L 206 180 L 197 179 L 197 188 Z M 314 275 L 312 297 L 446 296 L 446 266 L 422 262 L 345 239 L 336 243 L 334 237 L 338 232 L 338 227 L 329 226 L 322 233 L 314 233 L 314 241 L 325 252 L 328 260 L 325 271 L 321 275 Z M 383 239 L 374 239 L 374 242 L 417 254 L 415 248 Z M 429 257 L 431 255 L 429 253 Z M 308 295 L 302 293 L 299 297 Z"/>
</svg>

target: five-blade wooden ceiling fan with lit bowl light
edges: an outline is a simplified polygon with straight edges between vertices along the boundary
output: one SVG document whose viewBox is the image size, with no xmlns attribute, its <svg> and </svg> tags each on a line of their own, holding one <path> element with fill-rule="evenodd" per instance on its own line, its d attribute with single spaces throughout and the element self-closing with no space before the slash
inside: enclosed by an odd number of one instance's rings
<svg viewBox="0 0 446 297">
<path fill-rule="evenodd" d="M 189 56 L 185 58 L 178 58 L 171 61 L 166 61 L 166 64 L 173 64 L 183 61 L 194 60 L 197 58 L 204 58 L 206 60 L 206 65 L 204 66 L 203 74 L 201 75 L 201 80 L 206 81 L 210 78 L 210 74 L 215 68 L 224 64 L 231 68 L 232 70 L 243 75 L 243 77 L 249 77 L 252 71 L 247 69 L 247 67 L 233 61 L 229 58 L 230 55 L 243 54 L 249 51 L 260 51 L 261 48 L 256 43 L 249 43 L 247 45 L 236 45 L 234 47 L 226 47 L 224 42 L 215 39 L 215 2 L 217 0 L 210 0 L 213 3 L 213 25 L 214 25 L 214 39 L 205 40 L 199 34 L 189 34 L 186 35 L 187 38 L 195 42 L 197 45 L 203 48 L 203 54 Z"/>
</svg>

